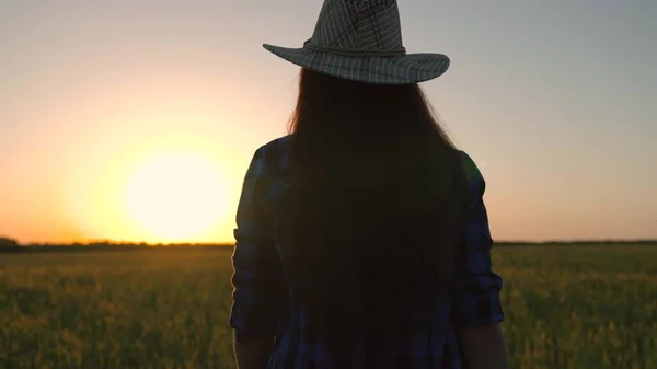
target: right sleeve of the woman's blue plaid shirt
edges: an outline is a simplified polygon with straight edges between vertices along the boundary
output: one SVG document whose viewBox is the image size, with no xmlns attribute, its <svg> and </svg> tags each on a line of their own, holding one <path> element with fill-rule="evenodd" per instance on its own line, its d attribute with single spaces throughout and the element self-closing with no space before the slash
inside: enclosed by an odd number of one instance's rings
<svg viewBox="0 0 657 369">
<path fill-rule="evenodd" d="M 466 173 L 468 207 L 454 275 L 454 324 L 492 324 L 504 319 L 499 300 L 503 280 L 492 270 L 493 239 L 483 201 L 486 184 L 472 159 L 465 153 L 462 157 Z"/>
</svg>

